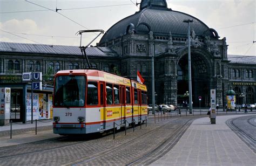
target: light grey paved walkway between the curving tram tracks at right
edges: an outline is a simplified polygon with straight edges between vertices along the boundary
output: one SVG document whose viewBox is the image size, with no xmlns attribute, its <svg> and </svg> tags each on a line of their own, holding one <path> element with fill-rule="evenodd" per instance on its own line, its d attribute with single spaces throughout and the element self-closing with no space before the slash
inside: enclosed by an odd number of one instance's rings
<svg viewBox="0 0 256 166">
<path fill-rule="evenodd" d="M 226 125 L 228 119 L 248 115 L 195 120 L 179 142 L 151 165 L 256 165 L 256 154 Z M 254 114 L 255 116 L 255 114 Z"/>
</svg>

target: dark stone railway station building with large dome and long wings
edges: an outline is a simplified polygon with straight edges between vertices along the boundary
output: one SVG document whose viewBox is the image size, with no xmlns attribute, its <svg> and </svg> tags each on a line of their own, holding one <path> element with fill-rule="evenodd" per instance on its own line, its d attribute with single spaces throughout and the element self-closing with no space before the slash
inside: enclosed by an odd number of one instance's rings
<svg viewBox="0 0 256 166">
<path fill-rule="evenodd" d="M 196 17 L 174 11 L 165 0 L 142 0 L 138 12 L 106 31 L 96 46 L 86 49 L 92 68 L 137 79 L 137 70 L 148 88 L 152 103 L 152 57 L 156 103 L 181 106 L 188 91 L 188 23 L 191 34 L 193 106 L 209 106 L 215 88 L 220 106 L 227 91 L 235 92 L 236 103 L 256 102 L 256 56 L 227 54 L 226 38 Z M 86 68 L 75 46 L 0 42 L 0 85 L 22 83 L 23 72 L 42 72 L 44 86 L 52 85 L 59 70 Z M 14 105 L 14 103 L 12 103 Z M 25 108 L 24 108 L 25 109 Z"/>
</svg>

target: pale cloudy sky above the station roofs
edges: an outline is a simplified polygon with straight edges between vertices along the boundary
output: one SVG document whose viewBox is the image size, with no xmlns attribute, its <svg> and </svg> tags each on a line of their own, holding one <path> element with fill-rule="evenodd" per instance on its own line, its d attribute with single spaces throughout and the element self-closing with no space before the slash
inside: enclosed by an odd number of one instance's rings
<svg viewBox="0 0 256 166">
<path fill-rule="evenodd" d="M 139 3 L 140 0 L 137 0 Z M 255 0 L 167 0 L 226 37 L 228 54 L 256 56 Z M 136 0 L 0 0 L 0 41 L 79 46 L 79 30 L 107 31 L 139 11 Z M 62 9 L 58 10 L 57 9 Z M 84 33 L 82 45 L 97 34 Z M 92 45 L 100 40 L 100 36 Z"/>
</svg>

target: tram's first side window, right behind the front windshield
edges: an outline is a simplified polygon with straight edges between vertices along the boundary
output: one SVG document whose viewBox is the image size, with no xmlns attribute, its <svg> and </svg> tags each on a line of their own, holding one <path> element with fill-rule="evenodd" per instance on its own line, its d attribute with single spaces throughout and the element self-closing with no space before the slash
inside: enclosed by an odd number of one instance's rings
<svg viewBox="0 0 256 166">
<path fill-rule="evenodd" d="M 97 84 L 97 82 L 88 82 L 86 103 L 87 103 L 87 105 L 98 105 L 98 84 Z"/>
</svg>

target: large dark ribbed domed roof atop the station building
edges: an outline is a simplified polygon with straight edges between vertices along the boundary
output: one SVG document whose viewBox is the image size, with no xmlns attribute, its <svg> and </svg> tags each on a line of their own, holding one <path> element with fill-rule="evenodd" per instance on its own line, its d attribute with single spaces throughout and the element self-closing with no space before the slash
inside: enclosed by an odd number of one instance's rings
<svg viewBox="0 0 256 166">
<path fill-rule="evenodd" d="M 155 1 L 155 3 L 152 0 L 142 1 L 140 11 L 110 27 L 99 43 L 103 44 L 114 37 L 123 36 L 132 29 L 134 29 L 134 33 L 146 34 L 153 31 L 154 34 L 163 35 L 171 32 L 173 36 L 186 36 L 188 25 L 183 21 L 187 19 L 193 19 L 193 22 L 190 23 L 191 30 L 194 30 L 197 36 L 205 35 L 218 38 L 218 33 L 199 19 L 183 12 L 168 9 L 165 0 Z"/>
</svg>

